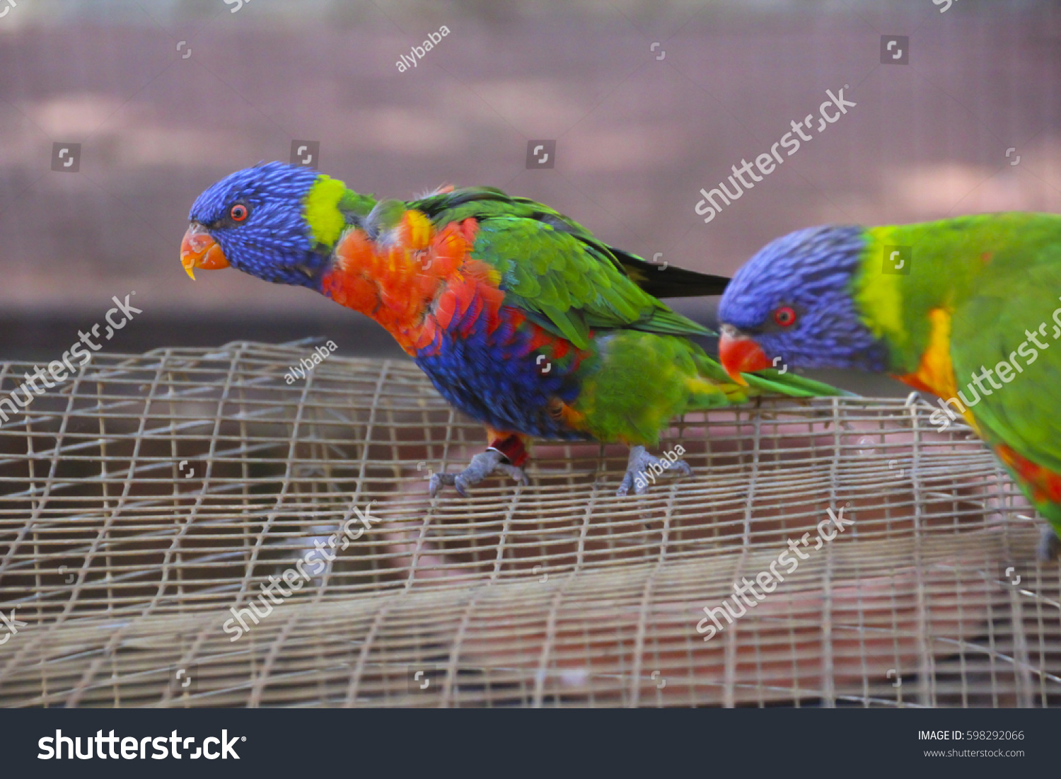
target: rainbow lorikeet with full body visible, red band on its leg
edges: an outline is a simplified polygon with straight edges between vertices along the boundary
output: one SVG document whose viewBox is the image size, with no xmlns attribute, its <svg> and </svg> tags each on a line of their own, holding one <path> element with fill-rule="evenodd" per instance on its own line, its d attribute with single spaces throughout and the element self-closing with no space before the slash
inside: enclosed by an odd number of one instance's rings
<svg viewBox="0 0 1061 779">
<path fill-rule="evenodd" d="M 837 392 L 777 370 L 733 381 L 686 337 L 708 330 L 658 299 L 718 294 L 728 279 L 661 270 L 497 189 L 378 201 L 271 162 L 214 184 L 189 219 L 189 275 L 231 265 L 370 316 L 486 427 L 487 451 L 462 473 L 435 474 L 432 495 L 447 484 L 465 495 L 495 470 L 525 482 L 530 436 L 627 444 L 619 494 L 640 494 L 646 469 L 669 465 L 645 447 L 672 417 L 770 392 Z"/>
</svg>

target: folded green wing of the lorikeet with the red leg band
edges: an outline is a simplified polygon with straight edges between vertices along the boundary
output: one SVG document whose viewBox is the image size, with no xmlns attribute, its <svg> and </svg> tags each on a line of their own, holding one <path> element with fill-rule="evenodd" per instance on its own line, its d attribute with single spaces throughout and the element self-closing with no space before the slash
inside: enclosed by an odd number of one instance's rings
<svg viewBox="0 0 1061 779">
<path fill-rule="evenodd" d="M 631 329 L 673 335 L 710 332 L 643 289 L 650 289 L 643 277 L 674 285 L 678 283 L 674 276 L 664 279 L 654 265 L 612 249 L 578 223 L 540 203 L 481 187 L 432 195 L 408 206 L 427 213 L 436 225 L 476 219 L 479 233 L 472 256 L 501 273 L 506 302 L 579 348 L 589 345 L 590 330 Z M 682 288 L 690 295 L 718 294 L 727 281 L 674 270 L 701 279 L 700 283 L 712 290 L 705 293 L 691 281 Z"/>
</svg>

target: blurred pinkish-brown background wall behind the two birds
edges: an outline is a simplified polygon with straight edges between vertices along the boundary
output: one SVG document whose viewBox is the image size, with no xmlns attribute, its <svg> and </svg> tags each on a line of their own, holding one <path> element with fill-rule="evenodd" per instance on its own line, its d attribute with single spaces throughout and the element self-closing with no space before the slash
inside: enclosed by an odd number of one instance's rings
<svg viewBox="0 0 1061 779">
<path fill-rule="evenodd" d="M 192 283 L 177 261 L 196 194 L 293 139 L 354 189 L 502 187 L 715 273 L 816 223 L 1061 211 L 1056 2 L 237 2 L 0 18 L 0 357 L 66 348 L 134 289 L 144 314 L 110 350 L 323 335 L 395 353 L 308 291 Z M 882 35 L 908 36 L 907 65 L 881 63 Z M 701 187 L 840 88 L 855 107 L 703 223 Z M 537 139 L 554 168 L 526 168 Z M 82 144 L 76 173 L 51 170 L 56 142 Z"/>
</svg>

